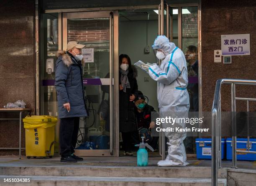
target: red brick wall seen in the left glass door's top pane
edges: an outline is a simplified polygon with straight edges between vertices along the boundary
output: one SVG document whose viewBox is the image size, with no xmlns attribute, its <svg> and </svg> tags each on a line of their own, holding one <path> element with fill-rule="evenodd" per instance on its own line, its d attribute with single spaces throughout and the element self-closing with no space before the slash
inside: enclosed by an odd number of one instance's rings
<svg viewBox="0 0 256 186">
<path fill-rule="evenodd" d="M 68 42 L 109 40 L 109 20 L 69 20 Z"/>
</svg>

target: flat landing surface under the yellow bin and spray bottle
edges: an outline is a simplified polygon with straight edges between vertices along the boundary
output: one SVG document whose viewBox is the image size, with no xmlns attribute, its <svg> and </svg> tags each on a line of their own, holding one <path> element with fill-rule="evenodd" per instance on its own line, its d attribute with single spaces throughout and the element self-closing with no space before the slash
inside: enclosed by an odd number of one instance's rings
<svg viewBox="0 0 256 186">
<path fill-rule="evenodd" d="M 83 157 L 84 161 L 77 163 L 61 163 L 60 157 L 53 157 L 51 159 L 27 159 L 22 156 L 0 156 L 0 167 L 2 166 L 31 166 L 31 167 L 52 167 L 52 166 L 137 166 L 136 156 L 120 156 L 120 157 Z M 157 162 L 161 159 L 156 153 L 149 153 L 148 167 L 157 167 Z M 196 158 L 188 158 L 188 166 L 210 167 L 211 160 L 198 160 Z M 230 168 L 232 161 L 223 160 L 223 168 Z M 254 169 L 256 170 L 256 161 L 238 161 L 239 169 Z"/>
</svg>

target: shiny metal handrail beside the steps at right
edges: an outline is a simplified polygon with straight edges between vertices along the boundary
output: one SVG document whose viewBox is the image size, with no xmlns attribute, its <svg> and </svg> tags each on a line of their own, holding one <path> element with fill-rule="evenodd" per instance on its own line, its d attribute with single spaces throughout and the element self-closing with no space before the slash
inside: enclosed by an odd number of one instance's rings
<svg viewBox="0 0 256 186">
<path fill-rule="evenodd" d="M 212 104 L 212 186 L 218 185 L 218 168 L 221 167 L 221 85 L 231 84 L 231 107 L 232 107 L 232 168 L 236 167 L 236 100 L 247 101 L 247 112 L 249 111 L 249 101 L 256 101 L 254 98 L 236 97 L 236 84 L 256 85 L 256 80 L 243 79 L 218 79 L 215 86 L 214 100 Z M 247 116 L 248 117 L 248 116 Z M 247 121 L 248 122 L 248 121 Z M 248 127 L 248 126 L 247 126 Z M 249 127 L 248 127 L 249 128 Z M 248 129 L 247 129 L 248 131 Z M 247 153 L 249 151 L 248 136 Z M 243 151 L 244 152 L 244 151 Z"/>
</svg>

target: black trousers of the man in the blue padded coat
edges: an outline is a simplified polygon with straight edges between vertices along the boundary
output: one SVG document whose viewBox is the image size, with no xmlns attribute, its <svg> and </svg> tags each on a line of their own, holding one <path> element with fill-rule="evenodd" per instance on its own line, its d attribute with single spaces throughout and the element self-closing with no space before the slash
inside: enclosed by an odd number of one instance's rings
<svg viewBox="0 0 256 186">
<path fill-rule="evenodd" d="M 79 117 L 60 119 L 60 155 L 69 156 L 74 153 L 79 130 Z"/>
</svg>

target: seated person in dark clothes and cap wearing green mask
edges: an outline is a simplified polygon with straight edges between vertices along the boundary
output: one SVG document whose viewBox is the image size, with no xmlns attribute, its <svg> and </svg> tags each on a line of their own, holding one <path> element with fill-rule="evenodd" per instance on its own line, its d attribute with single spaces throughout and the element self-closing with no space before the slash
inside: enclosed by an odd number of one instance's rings
<svg viewBox="0 0 256 186">
<path fill-rule="evenodd" d="M 148 143 L 152 146 L 153 149 L 156 150 L 157 142 L 159 137 L 151 137 L 150 136 L 150 129 L 154 128 L 155 122 L 151 122 L 151 112 L 156 112 L 154 107 L 148 105 L 145 101 L 145 97 L 143 96 L 141 91 L 138 91 L 138 96 L 134 100 L 135 105 L 135 116 L 137 119 L 137 126 L 138 126 L 138 133 L 140 134 L 140 138 L 143 135 L 145 137 L 145 143 Z M 149 135 L 147 137 L 147 135 Z M 140 139 L 141 140 L 141 139 Z"/>
</svg>

